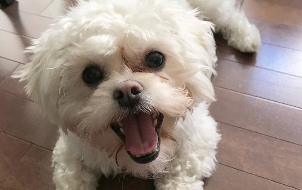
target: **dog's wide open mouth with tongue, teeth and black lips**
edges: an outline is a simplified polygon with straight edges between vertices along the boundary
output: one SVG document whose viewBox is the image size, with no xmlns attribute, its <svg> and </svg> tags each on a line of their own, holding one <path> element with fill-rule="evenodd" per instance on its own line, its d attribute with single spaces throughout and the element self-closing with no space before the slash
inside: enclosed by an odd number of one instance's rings
<svg viewBox="0 0 302 190">
<path fill-rule="evenodd" d="M 146 164 L 159 155 L 159 132 L 164 116 L 162 113 L 138 113 L 129 115 L 111 129 L 125 143 L 126 150 L 134 162 Z"/>
</svg>

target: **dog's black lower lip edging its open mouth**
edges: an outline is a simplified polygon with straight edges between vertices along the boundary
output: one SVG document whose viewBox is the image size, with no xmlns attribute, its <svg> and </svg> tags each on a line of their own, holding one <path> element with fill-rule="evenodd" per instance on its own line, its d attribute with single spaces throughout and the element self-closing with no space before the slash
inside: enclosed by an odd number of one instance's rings
<svg viewBox="0 0 302 190">
<path fill-rule="evenodd" d="M 160 132 L 160 128 L 162 125 L 162 121 L 164 118 L 164 115 L 162 113 L 158 113 L 157 114 L 157 118 L 155 119 L 154 116 L 156 114 L 153 113 L 152 117 L 154 119 L 154 121 L 156 120 L 156 125 L 154 126 L 154 130 L 157 133 L 158 136 L 158 143 L 156 144 L 156 150 L 152 152 L 149 152 L 147 154 L 144 155 L 133 155 L 131 152 L 129 152 L 127 149 L 127 153 L 129 154 L 129 156 L 133 159 L 134 162 L 137 162 L 139 164 L 146 164 L 149 162 L 152 162 L 153 160 L 155 160 L 158 155 L 159 155 L 159 151 L 160 151 L 160 138 L 159 138 L 159 132 Z M 120 122 L 117 123 L 112 123 L 111 124 L 111 129 L 116 133 L 116 135 L 125 143 L 126 142 L 126 137 L 123 133 L 123 128 L 122 128 L 122 124 Z"/>
</svg>

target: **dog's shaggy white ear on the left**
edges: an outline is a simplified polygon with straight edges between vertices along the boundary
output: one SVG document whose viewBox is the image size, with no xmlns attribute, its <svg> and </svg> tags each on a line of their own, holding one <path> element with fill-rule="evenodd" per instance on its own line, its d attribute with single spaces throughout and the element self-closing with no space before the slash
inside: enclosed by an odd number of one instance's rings
<svg viewBox="0 0 302 190">
<path fill-rule="evenodd" d="M 11 77 L 25 81 L 24 89 L 27 95 L 41 106 L 43 113 L 56 120 L 60 76 L 55 73 L 59 72 L 55 68 L 59 60 L 56 48 L 53 48 L 51 42 L 44 36 L 34 40 L 33 45 L 27 48 L 27 53 L 32 54 L 31 61 Z"/>
</svg>

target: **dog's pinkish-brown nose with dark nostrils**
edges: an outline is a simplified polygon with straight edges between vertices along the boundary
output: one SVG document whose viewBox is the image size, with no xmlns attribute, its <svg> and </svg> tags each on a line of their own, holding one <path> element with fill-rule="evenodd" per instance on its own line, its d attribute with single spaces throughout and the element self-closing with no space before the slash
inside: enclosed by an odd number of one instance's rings
<svg viewBox="0 0 302 190">
<path fill-rule="evenodd" d="M 113 91 L 113 98 L 120 106 L 131 107 L 140 100 L 140 93 L 143 91 L 142 85 L 135 80 L 126 80 L 116 85 Z"/>
</svg>

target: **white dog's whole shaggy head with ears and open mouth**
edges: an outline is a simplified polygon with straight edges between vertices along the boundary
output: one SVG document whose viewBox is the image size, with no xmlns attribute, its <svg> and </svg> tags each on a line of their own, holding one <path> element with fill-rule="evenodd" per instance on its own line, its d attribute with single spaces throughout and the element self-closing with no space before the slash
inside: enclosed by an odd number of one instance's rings
<svg viewBox="0 0 302 190">
<path fill-rule="evenodd" d="M 147 175 L 175 152 L 177 120 L 214 100 L 214 40 L 209 22 L 175 2 L 138 2 L 79 2 L 29 47 L 18 77 L 65 131 Z"/>
</svg>

